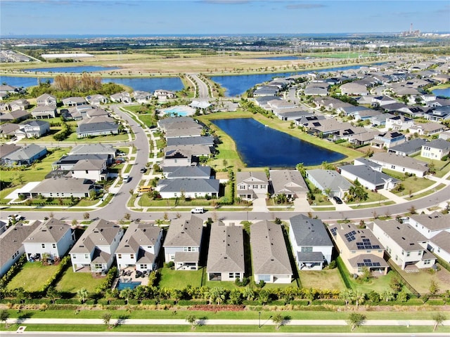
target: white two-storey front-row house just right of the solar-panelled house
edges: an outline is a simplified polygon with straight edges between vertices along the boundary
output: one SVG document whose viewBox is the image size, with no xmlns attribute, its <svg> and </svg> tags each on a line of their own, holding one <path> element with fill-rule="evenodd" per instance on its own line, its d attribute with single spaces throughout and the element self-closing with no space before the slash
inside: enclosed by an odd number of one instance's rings
<svg viewBox="0 0 450 337">
<path fill-rule="evenodd" d="M 426 249 L 428 239 L 411 225 L 397 220 L 375 220 L 372 232 L 401 270 L 431 267 L 436 262 L 435 256 Z"/>
</svg>

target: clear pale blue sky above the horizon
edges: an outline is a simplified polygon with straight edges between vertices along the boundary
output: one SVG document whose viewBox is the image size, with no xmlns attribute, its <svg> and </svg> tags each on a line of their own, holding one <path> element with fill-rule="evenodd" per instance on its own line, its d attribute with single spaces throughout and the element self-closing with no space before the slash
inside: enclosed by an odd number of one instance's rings
<svg viewBox="0 0 450 337">
<path fill-rule="evenodd" d="M 0 34 L 450 32 L 448 0 L 0 0 Z"/>
</svg>

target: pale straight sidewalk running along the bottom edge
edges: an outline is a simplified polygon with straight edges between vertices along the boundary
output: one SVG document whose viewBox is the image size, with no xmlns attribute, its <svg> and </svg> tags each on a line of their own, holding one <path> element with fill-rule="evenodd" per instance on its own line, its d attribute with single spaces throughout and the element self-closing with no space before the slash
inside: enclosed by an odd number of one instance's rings
<svg viewBox="0 0 450 337">
<path fill-rule="evenodd" d="M 8 324 L 105 324 L 103 319 L 46 319 L 25 318 L 8 319 Z M 117 319 L 111 319 L 110 324 L 117 323 Z M 202 325 L 259 325 L 259 319 L 199 319 Z M 118 324 L 129 325 L 187 325 L 186 319 L 121 319 Z M 276 325 L 271 319 L 261 319 L 262 325 Z M 289 319 L 284 325 L 310 325 L 310 326 L 342 326 L 348 325 L 345 319 Z M 369 319 L 364 322 L 368 326 L 434 326 L 432 319 Z M 450 325 L 450 320 L 443 322 L 444 326 Z"/>
</svg>

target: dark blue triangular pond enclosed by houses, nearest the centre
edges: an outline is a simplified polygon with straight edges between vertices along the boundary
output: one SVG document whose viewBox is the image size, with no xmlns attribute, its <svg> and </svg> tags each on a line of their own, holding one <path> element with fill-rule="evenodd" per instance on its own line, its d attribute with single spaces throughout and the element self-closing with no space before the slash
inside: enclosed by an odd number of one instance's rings
<svg viewBox="0 0 450 337">
<path fill-rule="evenodd" d="M 213 119 L 212 123 L 233 138 L 240 159 L 248 167 L 295 168 L 299 163 L 311 166 L 345 158 L 343 154 L 266 127 L 252 118 Z"/>
</svg>

